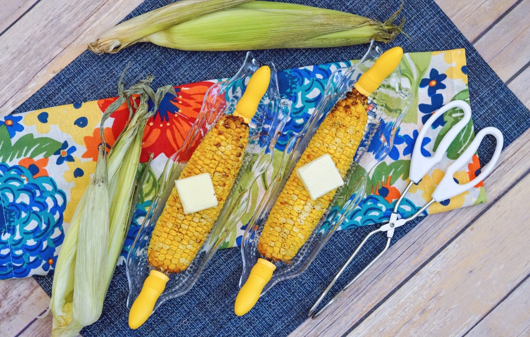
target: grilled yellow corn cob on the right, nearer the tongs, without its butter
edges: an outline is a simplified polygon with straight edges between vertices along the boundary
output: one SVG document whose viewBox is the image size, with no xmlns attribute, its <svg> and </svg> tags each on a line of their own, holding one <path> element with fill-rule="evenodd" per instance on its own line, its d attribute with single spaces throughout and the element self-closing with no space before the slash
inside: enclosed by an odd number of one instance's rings
<svg viewBox="0 0 530 337">
<path fill-rule="evenodd" d="M 354 89 L 337 102 L 319 126 L 272 206 L 258 244 L 261 255 L 273 261 L 289 261 L 307 241 L 336 189 L 313 201 L 296 176 L 296 169 L 328 153 L 344 178 L 364 136 L 366 104 L 367 98 Z"/>
</svg>

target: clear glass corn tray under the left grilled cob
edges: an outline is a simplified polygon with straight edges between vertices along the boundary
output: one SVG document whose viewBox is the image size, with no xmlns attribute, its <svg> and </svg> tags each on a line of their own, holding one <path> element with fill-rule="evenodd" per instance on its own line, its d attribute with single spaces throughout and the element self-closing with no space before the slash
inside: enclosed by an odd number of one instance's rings
<svg viewBox="0 0 530 337">
<path fill-rule="evenodd" d="M 240 221 L 248 208 L 252 198 L 250 189 L 255 180 L 266 173 L 271 165 L 274 146 L 290 111 L 290 101 L 281 99 L 279 96 L 275 66 L 272 63 L 262 62 L 254 58 L 251 53 L 246 55 L 240 70 L 231 79 L 218 82 L 208 89 L 200 113 L 192 125 L 190 133 L 179 151 L 167 160 L 161 177 L 160 190 L 156 194 L 127 256 L 126 269 L 129 282 L 127 307 L 129 309 L 142 290 L 149 272 L 153 269 L 147 262 L 149 241 L 156 221 L 160 217 L 174 186 L 174 180 L 178 179 L 185 163 L 200 143 L 202 133 L 206 133 L 206 130 L 213 127 L 224 114 L 233 113 L 250 76 L 262 65 L 270 67 L 271 80 L 266 94 L 260 101 L 257 113 L 249 124 L 249 143 L 246 146 L 241 169 L 231 193 L 210 234 L 189 267 L 180 273 L 168 275 L 170 280 L 158 298 L 153 312 L 164 301 L 181 296 L 191 289 L 219 245 L 223 243 L 228 233 Z M 257 202 L 259 203 L 259 200 Z"/>
</svg>

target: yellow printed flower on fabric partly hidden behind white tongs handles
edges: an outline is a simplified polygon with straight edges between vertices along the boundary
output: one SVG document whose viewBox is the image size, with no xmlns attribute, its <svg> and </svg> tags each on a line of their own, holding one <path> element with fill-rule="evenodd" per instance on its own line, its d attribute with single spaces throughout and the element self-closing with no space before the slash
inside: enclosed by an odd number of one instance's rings
<svg viewBox="0 0 530 337">
<path fill-rule="evenodd" d="M 420 180 L 420 182 L 416 185 L 413 184 L 410 187 L 410 193 L 416 193 L 418 191 L 421 191 L 421 197 L 426 202 L 429 202 L 431 200 L 431 195 L 434 192 L 436 186 L 441 181 L 441 178 L 443 178 L 445 175 L 445 172 L 440 169 L 435 169 L 432 172 L 432 176 L 426 175 L 423 177 L 423 179 Z M 466 171 L 458 171 L 455 173 L 454 178 L 458 181 L 459 184 L 465 184 L 469 182 L 469 177 L 467 176 Z M 465 196 L 468 195 L 469 192 L 466 191 L 462 194 L 459 194 L 457 196 L 452 197 L 449 200 L 443 201 L 441 203 L 435 202 L 429 207 L 429 214 L 454 210 L 457 208 L 461 208 L 464 205 L 465 202 Z"/>
</svg>

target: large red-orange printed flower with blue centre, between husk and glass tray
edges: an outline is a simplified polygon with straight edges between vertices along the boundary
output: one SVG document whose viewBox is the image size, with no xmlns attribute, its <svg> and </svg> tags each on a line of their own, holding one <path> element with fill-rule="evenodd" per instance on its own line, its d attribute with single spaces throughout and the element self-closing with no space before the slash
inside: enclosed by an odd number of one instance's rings
<svg viewBox="0 0 530 337">
<path fill-rule="evenodd" d="M 154 158 L 161 153 L 171 157 L 180 149 L 199 115 L 206 91 L 213 84 L 214 82 L 186 84 L 175 87 L 177 97 L 166 94 L 156 113 L 147 120 L 140 162 L 147 161 L 149 153 L 153 153 Z M 152 106 L 152 102 L 149 104 Z"/>
</svg>

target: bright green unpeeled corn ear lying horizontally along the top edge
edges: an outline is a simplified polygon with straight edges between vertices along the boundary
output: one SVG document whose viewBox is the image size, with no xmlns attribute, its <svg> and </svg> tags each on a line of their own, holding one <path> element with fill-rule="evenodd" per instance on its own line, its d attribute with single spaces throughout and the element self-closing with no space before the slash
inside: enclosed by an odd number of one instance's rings
<svg viewBox="0 0 530 337">
<path fill-rule="evenodd" d="M 351 13 L 304 5 L 252 1 L 175 23 L 140 42 L 182 50 L 323 48 L 390 42 L 400 32 L 392 24 L 401 7 L 385 22 Z"/>
</svg>

